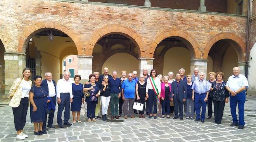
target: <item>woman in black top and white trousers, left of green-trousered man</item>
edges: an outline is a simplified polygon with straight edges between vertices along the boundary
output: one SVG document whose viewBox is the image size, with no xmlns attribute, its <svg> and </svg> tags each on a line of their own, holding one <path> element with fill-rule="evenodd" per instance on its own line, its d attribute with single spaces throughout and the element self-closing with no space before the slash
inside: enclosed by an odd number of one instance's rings
<svg viewBox="0 0 256 142">
<path fill-rule="evenodd" d="M 109 76 L 103 77 L 103 82 L 100 84 L 100 101 L 101 101 L 101 112 L 102 112 L 102 120 L 106 121 L 107 119 L 107 109 L 109 107 L 109 101 L 110 101 L 110 85 L 108 83 Z"/>
</svg>

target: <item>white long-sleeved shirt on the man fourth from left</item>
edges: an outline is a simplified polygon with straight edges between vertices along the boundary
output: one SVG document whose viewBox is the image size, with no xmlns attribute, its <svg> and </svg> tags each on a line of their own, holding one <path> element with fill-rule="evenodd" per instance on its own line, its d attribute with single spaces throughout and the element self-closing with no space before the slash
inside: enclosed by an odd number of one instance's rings
<svg viewBox="0 0 256 142">
<path fill-rule="evenodd" d="M 66 81 L 64 78 L 59 79 L 56 85 L 57 89 L 57 98 L 61 98 L 60 94 L 61 93 L 70 93 L 70 98 L 73 98 L 73 92 L 72 92 L 72 83 L 74 81 L 68 80 Z"/>
</svg>

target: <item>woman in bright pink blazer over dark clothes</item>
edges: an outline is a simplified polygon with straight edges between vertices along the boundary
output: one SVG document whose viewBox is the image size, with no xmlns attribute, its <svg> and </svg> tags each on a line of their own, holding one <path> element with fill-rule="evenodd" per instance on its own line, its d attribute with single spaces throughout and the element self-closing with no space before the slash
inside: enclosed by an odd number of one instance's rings
<svg viewBox="0 0 256 142">
<path fill-rule="evenodd" d="M 161 83 L 161 95 L 159 94 L 158 98 L 161 99 L 162 104 L 162 118 L 166 113 L 167 118 L 170 118 L 170 92 L 171 92 L 171 83 L 168 83 L 168 76 L 164 76 L 164 82 Z"/>
</svg>

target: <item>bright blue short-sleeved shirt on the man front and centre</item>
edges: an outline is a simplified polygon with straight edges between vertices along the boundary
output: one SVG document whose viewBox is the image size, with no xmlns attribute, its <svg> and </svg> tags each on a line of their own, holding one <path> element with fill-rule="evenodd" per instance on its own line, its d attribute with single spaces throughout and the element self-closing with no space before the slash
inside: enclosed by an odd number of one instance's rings
<svg viewBox="0 0 256 142">
<path fill-rule="evenodd" d="M 129 79 L 126 79 L 123 81 L 122 88 L 124 89 L 124 95 L 125 98 L 135 98 L 135 86 L 136 86 L 136 81 Z"/>
</svg>

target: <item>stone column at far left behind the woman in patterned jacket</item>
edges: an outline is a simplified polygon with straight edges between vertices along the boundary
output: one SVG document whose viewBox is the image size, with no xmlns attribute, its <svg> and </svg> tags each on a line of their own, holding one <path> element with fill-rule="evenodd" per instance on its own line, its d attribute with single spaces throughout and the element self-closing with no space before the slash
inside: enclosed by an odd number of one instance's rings
<svg viewBox="0 0 256 142">
<path fill-rule="evenodd" d="M 26 54 L 17 52 L 5 52 L 5 94 L 9 94 L 13 81 L 22 75 L 26 67 Z"/>
</svg>

